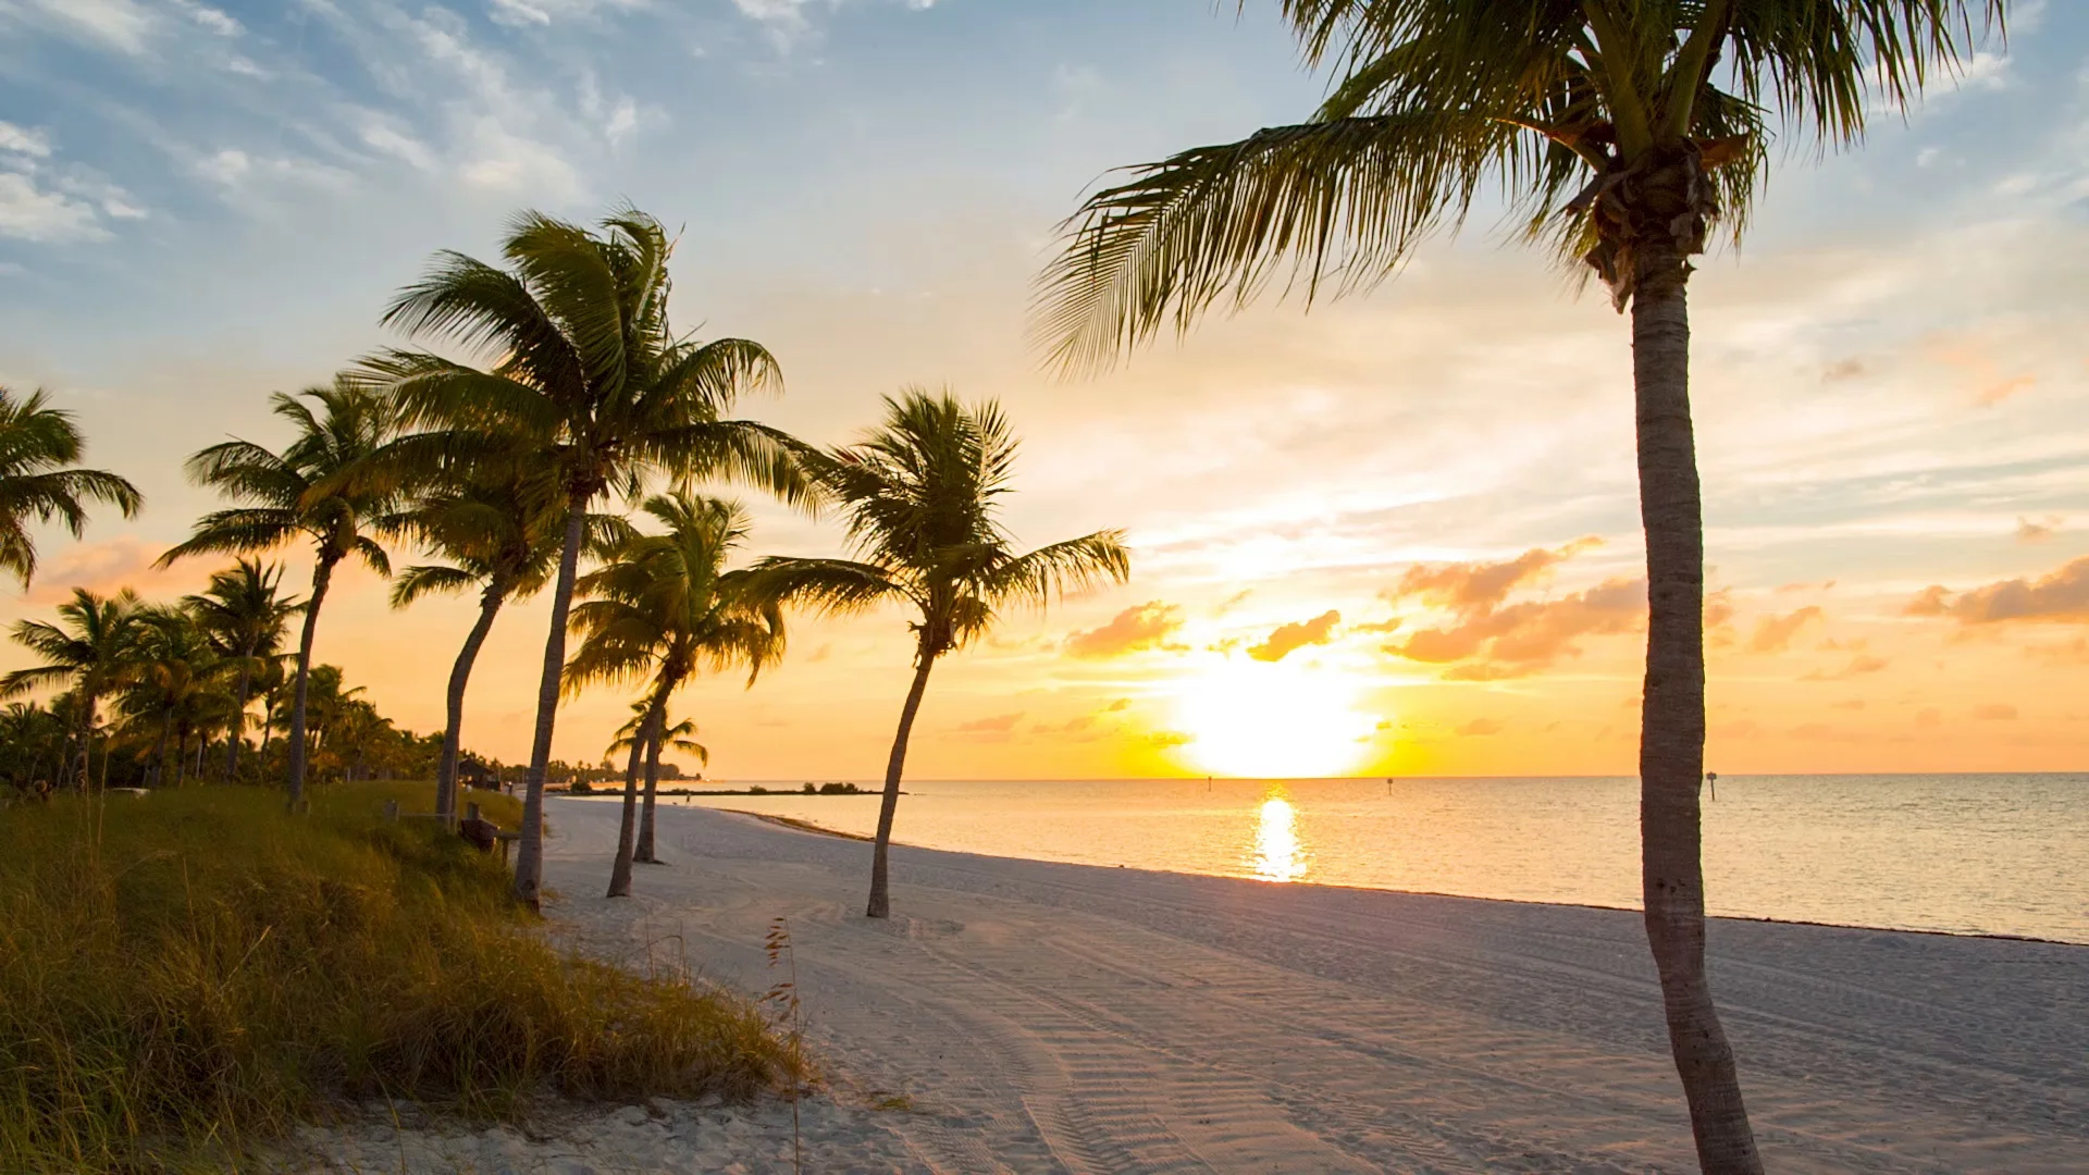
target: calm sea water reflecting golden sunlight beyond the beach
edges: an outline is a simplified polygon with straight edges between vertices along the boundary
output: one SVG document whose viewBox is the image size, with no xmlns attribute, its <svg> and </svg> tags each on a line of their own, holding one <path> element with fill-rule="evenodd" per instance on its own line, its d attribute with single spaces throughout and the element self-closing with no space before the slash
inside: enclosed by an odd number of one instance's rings
<svg viewBox="0 0 2089 1175">
<path fill-rule="evenodd" d="M 779 786 L 779 784 L 775 784 Z M 871 832 L 875 797 L 704 803 Z M 932 849 L 1638 907 L 1638 780 L 909 782 Z M 2089 776 L 1734 776 L 1713 914 L 2089 943 Z"/>
</svg>

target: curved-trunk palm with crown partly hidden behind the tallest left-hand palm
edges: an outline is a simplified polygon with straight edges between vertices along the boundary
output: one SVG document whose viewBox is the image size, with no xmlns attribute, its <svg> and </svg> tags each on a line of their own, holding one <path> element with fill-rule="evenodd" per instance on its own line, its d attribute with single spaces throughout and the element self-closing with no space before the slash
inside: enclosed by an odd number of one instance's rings
<svg viewBox="0 0 2089 1175">
<path fill-rule="evenodd" d="M 545 485 L 545 479 L 529 473 L 524 462 L 497 466 L 489 462 L 489 466 L 503 473 L 439 485 L 386 521 L 386 531 L 414 535 L 426 550 L 449 560 L 401 571 L 393 581 L 395 608 L 437 592 L 478 588 L 478 619 L 449 669 L 443 757 L 437 763 L 435 813 L 449 822 L 457 815 L 457 755 L 472 663 L 493 631 L 501 604 L 533 596 L 545 585 L 558 565 L 564 525 L 564 502 L 558 502 L 556 483 Z M 593 546 L 602 548 L 620 537 L 620 523 L 608 514 L 593 514 L 589 519 Z"/>
</svg>

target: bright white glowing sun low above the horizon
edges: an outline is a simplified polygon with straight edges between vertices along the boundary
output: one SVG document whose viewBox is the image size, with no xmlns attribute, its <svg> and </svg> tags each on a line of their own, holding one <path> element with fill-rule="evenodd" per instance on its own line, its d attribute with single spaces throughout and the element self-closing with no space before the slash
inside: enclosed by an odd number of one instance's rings
<svg viewBox="0 0 2089 1175">
<path fill-rule="evenodd" d="M 1343 776 L 1375 728 L 1358 694 L 1339 669 L 1228 656 L 1180 684 L 1174 719 L 1191 736 L 1184 755 L 1214 776 Z"/>
</svg>

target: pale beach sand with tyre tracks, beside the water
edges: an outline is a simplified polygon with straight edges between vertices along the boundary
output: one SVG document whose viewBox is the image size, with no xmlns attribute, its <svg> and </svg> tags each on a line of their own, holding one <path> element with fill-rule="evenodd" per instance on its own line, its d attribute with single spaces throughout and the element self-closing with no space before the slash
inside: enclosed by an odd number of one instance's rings
<svg viewBox="0 0 2089 1175">
<path fill-rule="evenodd" d="M 1636 914 L 896 849 L 869 922 L 867 845 L 666 805 L 668 866 L 608 901 L 616 805 L 551 820 L 554 920 L 589 949 L 762 989 L 790 918 L 831 1081 L 806 1171 L 1694 1169 Z M 2089 949 L 1726 920 L 1711 945 L 1774 1171 L 2089 1169 Z M 785 1108 L 623 1114 L 441 1160 L 353 1142 L 361 1171 L 790 1171 Z"/>
</svg>

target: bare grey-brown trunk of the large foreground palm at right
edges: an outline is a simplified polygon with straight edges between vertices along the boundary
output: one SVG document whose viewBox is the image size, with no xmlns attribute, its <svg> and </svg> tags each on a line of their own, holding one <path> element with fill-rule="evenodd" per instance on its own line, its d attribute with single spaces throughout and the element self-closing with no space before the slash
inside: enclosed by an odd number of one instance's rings
<svg viewBox="0 0 2089 1175">
<path fill-rule="evenodd" d="M 1698 1167 L 1759 1175 L 1734 1050 L 1705 976 L 1705 519 L 1690 429 L 1684 257 L 1646 249 L 1632 299 L 1640 519 L 1646 527 L 1646 692 L 1640 713 L 1640 880 L 1669 1050 L 1690 1102 Z"/>
</svg>

